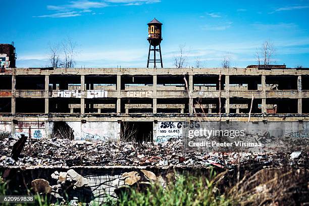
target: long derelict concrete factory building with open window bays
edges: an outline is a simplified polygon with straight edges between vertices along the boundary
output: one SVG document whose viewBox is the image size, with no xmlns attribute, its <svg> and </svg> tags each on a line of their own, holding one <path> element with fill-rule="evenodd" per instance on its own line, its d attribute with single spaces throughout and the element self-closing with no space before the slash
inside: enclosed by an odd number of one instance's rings
<svg viewBox="0 0 309 206">
<path fill-rule="evenodd" d="M 0 131 L 16 136 L 109 140 L 131 128 L 160 141 L 183 122 L 244 122 L 250 110 L 252 122 L 309 121 L 305 68 L 7 68 L 0 82 Z"/>
</svg>

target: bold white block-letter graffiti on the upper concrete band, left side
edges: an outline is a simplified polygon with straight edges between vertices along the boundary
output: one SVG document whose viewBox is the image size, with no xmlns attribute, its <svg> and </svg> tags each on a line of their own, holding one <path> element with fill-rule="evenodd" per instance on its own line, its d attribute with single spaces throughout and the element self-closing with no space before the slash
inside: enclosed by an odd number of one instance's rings
<svg viewBox="0 0 309 206">
<path fill-rule="evenodd" d="M 108 91 L 105 90 L 87 90 L 86 98 L 104 98 L 108 96 Z M 79 90 L 59 90 L 53 91 L 52 97 L 65 97 L 65 98 L 81 98 L 84 91 Z"/>
</svg>

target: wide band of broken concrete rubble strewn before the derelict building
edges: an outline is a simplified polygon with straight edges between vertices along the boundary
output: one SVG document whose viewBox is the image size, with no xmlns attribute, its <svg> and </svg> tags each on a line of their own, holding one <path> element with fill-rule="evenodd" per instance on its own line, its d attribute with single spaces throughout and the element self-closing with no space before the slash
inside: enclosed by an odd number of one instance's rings
<svg viewBox="0 0 309 206">
<path fill-rule="evenodd" d="M 307 153 L 184 153 L 181 139 L 166 142 L 89 142 L 68 139 L 27 139 L 18 158 L 11 158 L 16 139 L 0 142 L 0 166 L 179 166 L 229 168 L 263 162 L 307 167 Z"/>
</svg>

